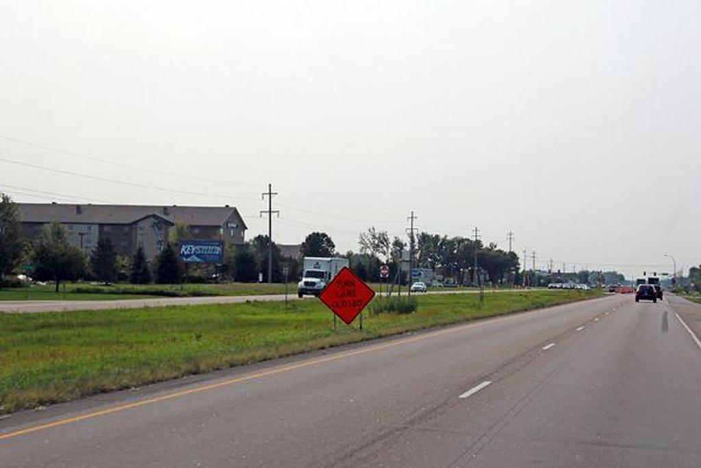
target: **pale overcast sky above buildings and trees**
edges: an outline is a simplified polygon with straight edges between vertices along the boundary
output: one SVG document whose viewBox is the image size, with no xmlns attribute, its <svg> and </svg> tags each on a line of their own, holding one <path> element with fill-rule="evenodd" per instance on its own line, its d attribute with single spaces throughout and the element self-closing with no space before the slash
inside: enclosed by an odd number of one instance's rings
<svg viewBox="0 0 701 468">
<path fill-rule="evenodd" d="M 271 182 L 281 243 L 415 210 L 539 266 L 701 263 L 697 0 L 0 6 L 18 201 L 229 203 L 250 239 Z"/>
</svg>

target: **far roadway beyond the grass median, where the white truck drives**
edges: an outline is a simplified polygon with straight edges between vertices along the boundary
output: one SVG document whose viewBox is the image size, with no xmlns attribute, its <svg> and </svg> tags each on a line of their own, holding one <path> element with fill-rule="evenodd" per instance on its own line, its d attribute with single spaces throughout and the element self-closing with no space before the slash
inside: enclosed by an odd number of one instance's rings
<svg viewBox="0 0 701 468">
<path fill-rule="evenodd" d="M 538 290 L 537 288 L 529 289 Z M 522 292 L 522 289 L 486 290 L 486 293 Z M 477 294 L 478 290 L 442 290 L 428 294 Z M 290 290 L 288 300 L 299 300 L 296 290 Z M 306 300 L 313 299 L 305 296 Z M 62 312 L 69 310 L 134 309 L 139 307 L 165 307 L 175 305 L 240 304 L 247 301 L 281 301 L 284 294 L 243 295 L 243 296 L 204 296 L 204 297 L 149 297 L 144 299 L 114 300 L 15 300 L 0 301 L 0 313 Z"/>
</svg>

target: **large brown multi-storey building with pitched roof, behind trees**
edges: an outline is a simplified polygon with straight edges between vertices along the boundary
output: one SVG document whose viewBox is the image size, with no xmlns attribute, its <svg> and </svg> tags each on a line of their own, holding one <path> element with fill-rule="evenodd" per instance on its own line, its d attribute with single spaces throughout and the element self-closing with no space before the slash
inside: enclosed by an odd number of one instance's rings
<svg viewBox="0 0 701 468">
<path fill-rule="evenodd" d="M 90 254 L 100 239 L 110 239 L 117 253 L 132 256 L 141 246 L 147 258 L 161 252 L 176 224 L 187 225 L 192 239 L 244 243 L 247 229 L 232 206 L 74 205 L 17 203 L 22 229 L 30 241 L 50 222 L 66 228 L 72 246 Z"/>
</svg>

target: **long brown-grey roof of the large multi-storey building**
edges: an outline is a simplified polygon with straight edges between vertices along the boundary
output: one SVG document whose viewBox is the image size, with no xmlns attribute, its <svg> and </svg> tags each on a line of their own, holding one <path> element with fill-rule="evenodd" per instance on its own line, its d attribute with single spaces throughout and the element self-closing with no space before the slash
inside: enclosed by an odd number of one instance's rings
<svg viewBox="0 0 701 468">
<path fill-rule="evenodd" d="M 97 225 L 130 225 L 157 215 L 170 222 L 190 226 L 221 226 L 236 213 L 241 228 L 248 229 L 233 206 L 153 206 L 153 205 L 86 205 L 68 203 L 17 203 L 23 222 L 94 223 Z"/>
</svg>

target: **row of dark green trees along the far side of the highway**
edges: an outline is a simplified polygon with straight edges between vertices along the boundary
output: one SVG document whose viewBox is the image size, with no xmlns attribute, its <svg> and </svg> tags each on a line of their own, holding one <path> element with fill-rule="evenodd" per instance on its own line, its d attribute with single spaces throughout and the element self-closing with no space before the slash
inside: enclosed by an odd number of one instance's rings
<svg viewBox="0 0 701 468">
<path fill-rule="evenodd" d="M 268 236 L 258 235 L 243 244 L 224 244 L 222 265 L 215 274 L 211 266 L 183 264 L 179 261 L 177 246 L 181 239 L 191 239 L 189 227 L 176 223 L 170 239 L 155 259 L 149 260 L 139 247 L 132 257 L 119 255 L 109 239 L 99 239 L 96 248 L 86 255 L 83 250 L 71 246 L 63 225 L 53 222 L 43 226 L 36 241 L 29 243 L 22 237 L 20 216 L 15 203 L 6 194 L 0 199 L 0 274 L 4 277 L 17 272 L 22 262 L 34 267 L 32 277 L 39 281 L 55 281 L 58 290 L 61 281 L 87 279 L 131 283 L 183 283 L 218 281 L 225 279 L 239 282 L 268 281 L 268 248 L 272 248 L 272 281 L 279 283 L 297 281 L 303 267 L 300 257 L 348 258 L 351 268 L 365 281 L 380 281 L 381 265 L 388 265 L 390 277 L 409 281 L 406 274 L 397 275 L 403 260 L 407 260 L 407 248 L 411 247 L 415 268 L 440 272 L 444 279 L 459 284 L 475 284 L 478 281 L 492 284 L 522 284 L 543 286 L 547 281 L 557 281 L 562 275 L 537 275 L 520 271 L 519 258 L 513 252 L 498 248 L 496 243 L 484 245 L 467 236 L 446 236 L 421 232 L 404 241 L 388 232 L 369 227 L 358 236 L 358 251 L 336 251 L 331 236 L 324 232 L 312 232 L 301 243 L 299 256 L 283 256 L 280 248 L 268 242 Z M 475 254 L 477 268 L 475 269 Z M 287 269 L 287 278 L 283 272 Z M 598 272 L 580 272 L 582 283 L 590 282 L 590 276 Z M 607 272 L 613 276 L 615 272 Z M 543 284 L 541 284 L 543 283 Z M 700 281 L 701 283 L 701 281 Z M 1 285 L 1 282 L 0 282 Z"/>
</svg>

